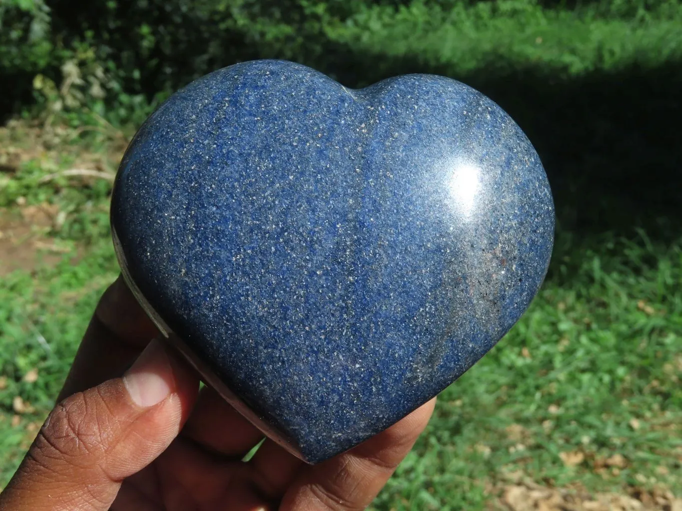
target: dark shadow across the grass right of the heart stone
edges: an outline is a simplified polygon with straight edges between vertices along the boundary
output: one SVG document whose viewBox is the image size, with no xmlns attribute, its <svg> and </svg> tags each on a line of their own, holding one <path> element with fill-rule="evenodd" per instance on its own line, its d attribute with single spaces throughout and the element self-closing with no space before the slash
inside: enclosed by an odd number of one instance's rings
<svg viewBox="0 0 682 511">
<path fill-rule="evenodd" d="M 682 63 L 559 79 L 539 67 L 456 76 L 419 59 L 342 54 L 349 86 L 410 72 L 452 76 L 486 93 L 526 131 L 552 185 L 559 228 L 660 241 L 682 234 Z"/>
</svg>

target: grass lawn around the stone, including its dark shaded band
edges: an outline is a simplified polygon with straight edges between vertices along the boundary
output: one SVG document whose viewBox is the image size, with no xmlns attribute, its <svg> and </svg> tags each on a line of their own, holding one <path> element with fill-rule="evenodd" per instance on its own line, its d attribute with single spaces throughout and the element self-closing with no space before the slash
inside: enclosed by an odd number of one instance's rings
<svg viewBox="0 0 682 511">
<path fill-rule="evenodd" d="M 627 21 L 600 3 L 580 17 L 414 2 L 328 34 L 358 83 L 413 69 L 480 84 L 536 144 L 559 213 L 529 311 L 441 394 L 375 510 L 682 510 L 682 153 L 665 127 L 682 114 L 682 4 L 668 3 Z M 0 128 L 0 487 L 117 276 L 108 196 L 129 136 Z"/>
</svg>

